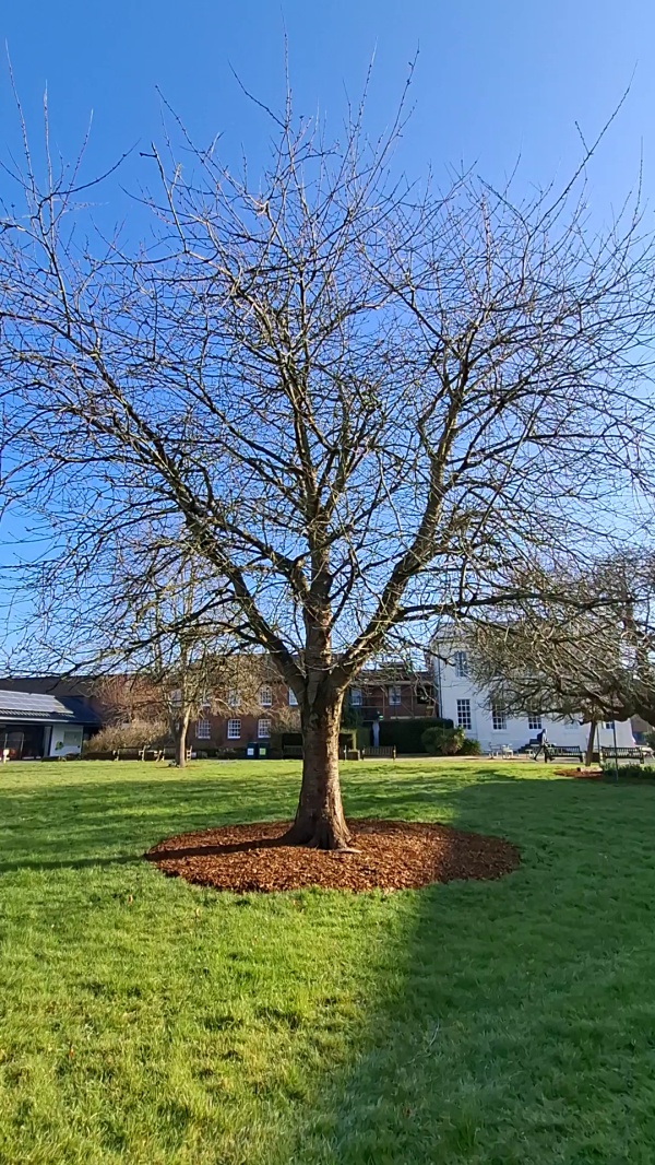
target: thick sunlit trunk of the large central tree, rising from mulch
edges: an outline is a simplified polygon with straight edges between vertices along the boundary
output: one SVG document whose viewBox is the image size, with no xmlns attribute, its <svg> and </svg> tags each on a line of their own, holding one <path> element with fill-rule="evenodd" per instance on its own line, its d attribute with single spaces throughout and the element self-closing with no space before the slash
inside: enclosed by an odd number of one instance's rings
<svg viewBox="0 0 655 1165">
<path fill-rule="evenodd" d="M 350 833 L 339 783 L 341 693 L 330 693 L 301 711 L 302 784 L 287 840 L 316 849 L 350 849 Z"/>
</svg>

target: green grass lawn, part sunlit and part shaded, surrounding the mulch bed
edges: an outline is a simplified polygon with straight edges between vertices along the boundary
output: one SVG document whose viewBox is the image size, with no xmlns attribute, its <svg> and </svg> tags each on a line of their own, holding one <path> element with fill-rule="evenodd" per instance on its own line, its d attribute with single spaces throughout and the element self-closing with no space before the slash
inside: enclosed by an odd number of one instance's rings
<svg viewBox="0 0 655 1165">
<path fill-rule="evenodd" d="M 140 855 L 293 812 L 293 763 L 0 769 L 0 1163 L 653 1165 L 655 788 L 343 767 L 499 882 L 216 894 Z"/>
</svg>

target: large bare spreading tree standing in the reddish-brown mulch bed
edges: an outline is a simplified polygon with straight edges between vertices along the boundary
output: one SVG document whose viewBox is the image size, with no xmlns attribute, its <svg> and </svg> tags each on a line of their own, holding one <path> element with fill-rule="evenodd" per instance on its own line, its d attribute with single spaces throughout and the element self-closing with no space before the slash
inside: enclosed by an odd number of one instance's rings
<svg viewBox="0 0 655 1165">
<path fill-rule="evenodd" d="M 536 598 L 517 564 L 584 552 L 639 483 L 653 246 L 638 209 L 590 230 L 583 167 L 518 203 L 469 176 L 434 192 L 393 176 L 403 112 L 373 143 L 361 110 L 334 142 L 290 103 L 266 115 L 258 178 L 181 127 L 152 147 L 135 249 L 93 233 L 74 168 L 14 171 L 5 486 L 56 517 L 64 572 L 108 530 L 181 522 L 298 698 L 290 840 L 348 847 L 363 664 L 400 628 Z"/>
</svg>

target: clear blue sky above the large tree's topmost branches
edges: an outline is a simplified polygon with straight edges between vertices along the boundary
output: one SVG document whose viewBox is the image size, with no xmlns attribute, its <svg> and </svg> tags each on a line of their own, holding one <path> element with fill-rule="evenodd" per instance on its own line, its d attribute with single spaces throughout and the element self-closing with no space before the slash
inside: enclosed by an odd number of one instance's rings
<svg viewBox="0 0 655 1165">
<path fill-rule="evenodd" d="M 497 181 L 520 154 L 521 182 L 563 174 L 579 149 L 575 122 L 592 136 L 634 72 L 592 171 L 593 206 L 604 214 L 625 193 L 642 148 L 647 192 L 655 181 L 653 0 L 33 0 L 2 8 L 28 119 L 36 125 L 48 84 L 55 139 L 69 154 L 93 110 L 90 164 L 136 141 L 147 148 L 159 126 L 157 85 L 197 139 L 222 132 L 228 155 L 243 143 L 257 156 L 263 125 L 230 65 L 258 97 L 279 103 L 286 28 L 298 111 L 319 106 L 334 122 L 344 92 L 359 93 L 375 51 L 369 115 L 384 125 L 420 49 L 418 108 L 403 147 L 412 172 L 463 160 Z M 3 147 L 15 140 L 6 73 L 0 65 Z M 137 170 L 135 158 L 129 186 Z"/>
</svg>

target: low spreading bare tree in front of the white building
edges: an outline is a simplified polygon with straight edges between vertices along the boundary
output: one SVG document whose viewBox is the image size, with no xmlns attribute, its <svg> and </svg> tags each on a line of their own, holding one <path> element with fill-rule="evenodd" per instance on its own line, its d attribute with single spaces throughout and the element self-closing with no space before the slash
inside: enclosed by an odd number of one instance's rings
<svg viewBox="0 0 655 1165">
<path fill-rule="evenodd" d="M 600 720 L 655 720 L 655 564 L 619 555 L 558 581 L 469 627 L 471 675 L 508 712 L 582 718 L 591 763 Z"/>
</svg>

